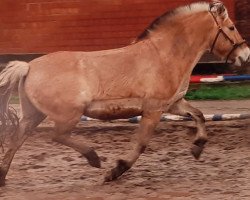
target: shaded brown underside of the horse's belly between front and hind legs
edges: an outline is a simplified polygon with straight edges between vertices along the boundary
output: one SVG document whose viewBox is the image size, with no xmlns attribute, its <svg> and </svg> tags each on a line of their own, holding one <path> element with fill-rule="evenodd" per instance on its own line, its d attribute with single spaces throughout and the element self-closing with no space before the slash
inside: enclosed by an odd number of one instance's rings
<svg viewBox="0 0 250 200">
<path fill-rule="evenodd" d="M 102 120 L 126 119 L 142 114 L 142 100 L 115 99 L 91 102 L 84 115 Z"/>
</svg>

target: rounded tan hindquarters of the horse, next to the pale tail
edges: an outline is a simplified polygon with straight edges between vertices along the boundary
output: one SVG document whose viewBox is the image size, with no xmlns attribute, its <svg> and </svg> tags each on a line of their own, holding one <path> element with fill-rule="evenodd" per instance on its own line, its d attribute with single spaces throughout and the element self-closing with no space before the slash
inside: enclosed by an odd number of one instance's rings
<svg viewBox="0 0 250 200">
<path fill-rule="evenodd" d="M 85 77 L 74 64 L 50 57 L 30 63 L 25 92 L 31 103 L 56 123 L 78 122 L 92 100 Z"/>
</svg>

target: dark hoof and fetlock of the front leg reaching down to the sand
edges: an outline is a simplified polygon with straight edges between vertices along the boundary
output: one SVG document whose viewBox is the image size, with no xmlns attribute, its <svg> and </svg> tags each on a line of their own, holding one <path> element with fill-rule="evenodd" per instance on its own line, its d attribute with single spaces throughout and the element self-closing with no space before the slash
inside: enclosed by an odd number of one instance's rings
<svg viewBox="0 0 250 200">
<path fill-rule="evenodd" d="M 126 172 L 129 169 L 130 166 L 125 160 L 118 160 L 117 166 L 106 174 L 104 182 L 110 182 L 116 180 L 118 177 L 120 177 L 124 172 Z"/>
</svg>

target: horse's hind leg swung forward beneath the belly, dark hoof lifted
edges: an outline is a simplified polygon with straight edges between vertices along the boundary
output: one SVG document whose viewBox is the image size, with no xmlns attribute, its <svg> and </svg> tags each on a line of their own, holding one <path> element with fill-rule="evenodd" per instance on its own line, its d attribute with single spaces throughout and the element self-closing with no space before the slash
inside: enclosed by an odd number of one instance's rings
<svg viewBox="0 0 250 200">
<path fill-rule="evenodd" d="M 73 148 L 78 151 L 81 155 L 87 158 L 88 163 L 92 167 L 100 168 L 101 161 L 98 157 L 97 153 L 93 148 L 87 146 L 81 141 L 77 141 L 73 137 L 71 137 L 71 130 L 78 122 L 78 119 L 72 122 L 65 123 L 56 123 L 55 125 L 55 136 L 53 138 L 54 141 L 66 145 L 68 147 Z"/>
</svg>

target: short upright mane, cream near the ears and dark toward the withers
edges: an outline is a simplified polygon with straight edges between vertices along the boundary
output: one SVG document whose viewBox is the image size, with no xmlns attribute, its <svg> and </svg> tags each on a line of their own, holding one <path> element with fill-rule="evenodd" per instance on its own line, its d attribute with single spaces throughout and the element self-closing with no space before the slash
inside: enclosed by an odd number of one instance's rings
<svg viewBox="0 0 250 200">
<path fill-rule="evenodd" d="M 208 11 L 210 4 L 207 2 L 197 2 L 190 5 L 182 6 L 165 12 L 163 15 L 156 18 L 136 39 L 134 42 L 139 42 L 147 38 L 150 32 L 155 31 L 160 25 L 166 23 L 167 21 L 173 20 L 180 15 L 189 15 L 192 13 Z"/>
</svg>

